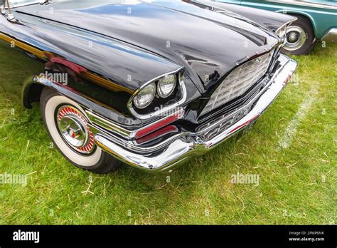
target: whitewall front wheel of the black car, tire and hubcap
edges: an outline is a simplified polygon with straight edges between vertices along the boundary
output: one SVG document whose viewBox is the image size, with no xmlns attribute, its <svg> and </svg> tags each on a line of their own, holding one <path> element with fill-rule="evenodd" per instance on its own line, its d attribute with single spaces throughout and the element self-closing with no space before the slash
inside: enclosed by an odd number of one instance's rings
<svg viewBox="0 0 337 248">
<path fill-rule="evenodd" d="M 43 89 L 40 105 L 50 138 L 73 165 L 98 174 L 117 169 L 119 160 L 95 145 L 80 105 L 50 88 Z"/>
</svg>

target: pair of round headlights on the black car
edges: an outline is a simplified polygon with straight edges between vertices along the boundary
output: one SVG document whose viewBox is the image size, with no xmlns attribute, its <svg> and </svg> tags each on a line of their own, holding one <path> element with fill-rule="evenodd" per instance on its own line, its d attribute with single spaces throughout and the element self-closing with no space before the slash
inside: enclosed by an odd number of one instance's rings
<svg viewBox="0 0 337 248">
<path fill-rule="evenodd" d="M 160 78 L 156 83 L 150 83 L 134 96 L 134 105 L 139 109 L 146 108 L 157 94 L 160 98 L 168 98 L 176 88 L 176 81 L 176 74 L 170 74 Z"/>
</svg>

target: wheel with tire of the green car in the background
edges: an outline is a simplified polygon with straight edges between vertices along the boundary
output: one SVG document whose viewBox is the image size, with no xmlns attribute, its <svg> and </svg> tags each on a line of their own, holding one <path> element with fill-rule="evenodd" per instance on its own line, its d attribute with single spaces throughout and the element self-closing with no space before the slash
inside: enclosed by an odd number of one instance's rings
<svg viewBox="0 0 337 248">
<path fill-rule="evenodd" d="M 314 48 L 314 29 L 311 21 L 304 16 L 296 16 L 295 21 L 287 29 L 287 43 L 284 45 L 283 52 L 292 55 L 305 55 Z"/>
</svg>

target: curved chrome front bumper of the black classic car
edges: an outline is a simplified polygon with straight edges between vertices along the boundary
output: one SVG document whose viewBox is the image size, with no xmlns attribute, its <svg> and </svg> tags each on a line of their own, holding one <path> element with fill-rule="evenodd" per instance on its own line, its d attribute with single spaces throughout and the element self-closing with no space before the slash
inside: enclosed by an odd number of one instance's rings
<svg viewBox="0 0 337 248">
<path fill-rule="evenodd" d="M 180 133 L 174 138 L 165 140 L 154 147 L 141 148 L 132 142 L 125 141 L 121 143 L 120 140 L 116 140 L 111 136 L 97 133 L 95 135 L 95 142 L 100 148 L 107 151 L 107 153 L 141 170 L 146 170 L 147 172 L 171 170 L 174 165 L 188 159 L 188 157 L 202 155 L 232 135 L 235 135 L 235 133 L 252 125 L 252 123 L 264 113 L 264 110 L 267 109 L 274 99 L 277 98 L 277 95 L 279 95 L 287 84 L 296 67 L 296 61 L 287 58 L 287 56 L 280 56 L 279 67 L 267 84 L 267 89 L 252 100 L 252 102 L 254 101 L 254 105 L 248 103 L 253 106 L 250 112 L 235 124 L 230 125 L 227 129 L 221 130 L 221 133 L 210 140 L 203 140 L 203 138 L 201 138 L 203 136 L 200 135 L 199 132 Z M 242 108 L 247 108 L 247 106 L 243 106 Z M 214 123 L 213 125 L 208 127 L 208 129 L 216 128 L 216 125 L 219 125 L 219 123 Z"/>
</svg>

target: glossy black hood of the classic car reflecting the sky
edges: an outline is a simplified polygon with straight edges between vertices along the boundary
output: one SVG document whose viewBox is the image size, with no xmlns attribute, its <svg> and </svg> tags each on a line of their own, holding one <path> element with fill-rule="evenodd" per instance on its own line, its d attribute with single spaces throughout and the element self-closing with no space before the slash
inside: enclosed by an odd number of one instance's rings
<svg viewBox="0 0 337 248">
<path fill-rule="evenodd" d="M 16 11 L 159 54 L 184 66 L 200 91 L 279 43 L 274 33 L 252 21 L 181 1 L 65 1 Z"/>
</svg>

